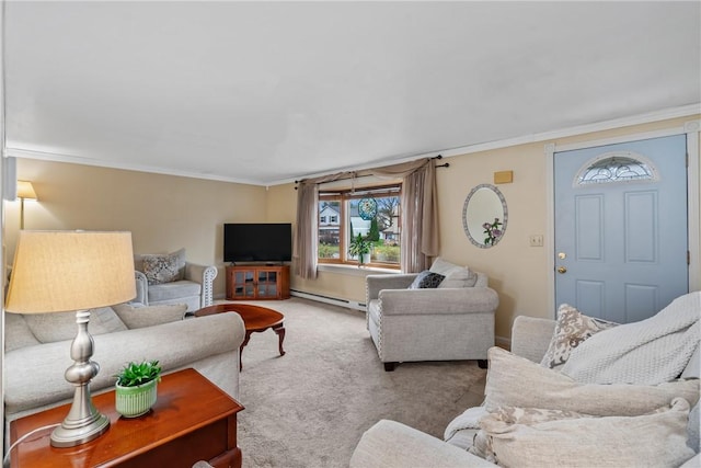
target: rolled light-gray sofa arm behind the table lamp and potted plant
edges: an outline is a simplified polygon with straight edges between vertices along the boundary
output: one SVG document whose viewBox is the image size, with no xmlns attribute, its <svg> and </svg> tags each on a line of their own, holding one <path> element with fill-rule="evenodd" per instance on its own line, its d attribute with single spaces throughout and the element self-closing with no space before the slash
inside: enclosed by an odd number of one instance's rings
<svg viewBox="0 0 701 468">
<path fill-rule="evenodd" d="M 158 359 L 164 373 L 197 361 L 238 350 L 245 335 L 238 313 L 218 313 L 156 327 L 93 336 L 92 359 L 100 373 L 91 381 L 93 392 L 114 386 L 114 375 L 129 361 Z M 72 365 L 71 340 L 20 347 L 5 353 L 5 414 L 69 400 L 73 387 L 64 373 Z M 239 363 L 231 372 L 239 373 Z M 31 372 L 27 372 L 31 369 Z"/>
</svg>

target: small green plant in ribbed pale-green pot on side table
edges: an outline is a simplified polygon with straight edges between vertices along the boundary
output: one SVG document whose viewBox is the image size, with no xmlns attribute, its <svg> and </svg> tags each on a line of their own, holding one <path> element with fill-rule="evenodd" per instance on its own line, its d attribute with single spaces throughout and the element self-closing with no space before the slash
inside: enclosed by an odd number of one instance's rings
<svg viewBox="0 0 701 468">
<path fill-rule="evenodd" d="M 158 361 L 131 362 L 115 377 L 115 407 L 123 416 L 140 416 L 156 403 L 158 383 L 161 380 Z"/>
</svg>

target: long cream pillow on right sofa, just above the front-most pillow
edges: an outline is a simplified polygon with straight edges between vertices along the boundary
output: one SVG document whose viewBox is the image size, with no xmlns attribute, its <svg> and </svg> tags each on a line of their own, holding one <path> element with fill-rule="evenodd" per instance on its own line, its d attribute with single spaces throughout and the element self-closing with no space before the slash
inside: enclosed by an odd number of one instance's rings
<svg viewBox="0 0 701 468">
<path fill-rule="evenodd" d="M 579 384 L 571 377 L 516 356 L 499 347 L 487 352 L 490 370 L 484 406 L 542 408 L 593 415 L 640 415 L 681 397 L 699 400 L 699 380 L 675 380 L 656 386 Z"/>
</svg>

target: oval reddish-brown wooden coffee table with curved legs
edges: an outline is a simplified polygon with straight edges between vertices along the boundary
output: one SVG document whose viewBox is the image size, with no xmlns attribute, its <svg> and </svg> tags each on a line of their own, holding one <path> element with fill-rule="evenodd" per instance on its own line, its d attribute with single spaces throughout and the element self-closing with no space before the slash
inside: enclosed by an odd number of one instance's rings
<svg viewBox="0 0 701 468">
<path fill-rule="evenodd" d="M 273 329 L 278 338 L 278 351 L 280 356 L 285 355 L 285 350 L 283 350 L 283 341 L 285 341 L 285 324 L 283 323 L 285 320 L 284 315 L 277 310 L 268 309 L 267 307 L 253 306 L 251 304 L 227 303 L 202 308 L 195 312 L 195 317 L 211 316 L 212 313 L 222 312 L 237 312 L 241 316 L 243 324 L 245 326 L 245 339 L 243 340 L 243 343 L 241 343 L 241 349 L 239 350 L 239 370 L 243 369 L 243 361 L 241 359 L 243 347 L 249 344 L 251 333 L 253 332 L 263 332 L 267 329 Z"/>
</svg>

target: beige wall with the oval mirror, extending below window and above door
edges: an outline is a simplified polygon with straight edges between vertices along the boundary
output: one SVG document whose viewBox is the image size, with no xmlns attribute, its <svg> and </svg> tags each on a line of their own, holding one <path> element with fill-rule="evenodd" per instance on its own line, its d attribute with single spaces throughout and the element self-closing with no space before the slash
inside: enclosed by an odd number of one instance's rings
<svg viewBox="0 0 701 468">
<path fill-rule="evenodd" d="M 682 127 L 686 117 L 628 128 L 598 132 L 551 141 L 518 145 L 446 159 L 450 168 L 438 169 L 438 206 L 440 221 L 440 255 L 462 263 L 490 276 L 490 285 L 499 294 L 496 334 L 510 336 L 510 326 L 518 315 L 554 317 L 548 309 L 548 252 L 544 247 L 529 247 L 530 235 L 547 232 L 548 194 L 544 147 L 549 142 L 567 145 L 634 135 L 656 129 Z M 504 238 L 492 249 L 479 249 L 462 229 L 462 207 L 470 190 L 478 184 L 493 183 L 496 171 L 514 171 L 514 182 L 499 184 L 508 205 L 508 226 Z M 268 203 L 275 204 L 275 201 Z M 698 205 L 701 205 L 699 203 Z M 697 213 L 697 217 L 700 214 Z M 354 301 L 365 301 L 364 276 L 343 272 L 321 271 L 317 281 L 292 277 L 292 287 Z"/>
</svg>

